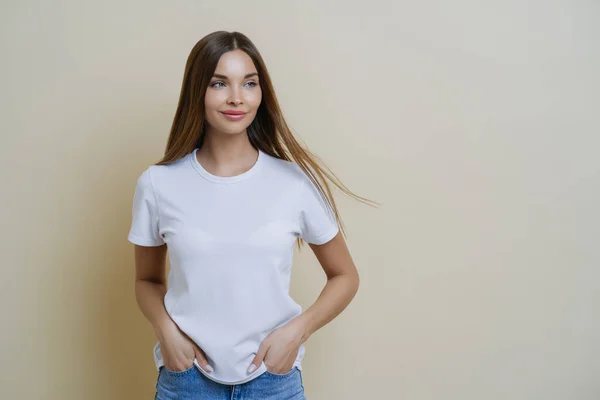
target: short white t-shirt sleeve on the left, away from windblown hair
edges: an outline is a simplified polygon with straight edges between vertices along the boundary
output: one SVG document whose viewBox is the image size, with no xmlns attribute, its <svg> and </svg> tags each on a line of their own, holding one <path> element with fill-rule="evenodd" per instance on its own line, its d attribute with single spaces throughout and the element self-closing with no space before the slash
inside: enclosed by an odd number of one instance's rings
<svg viewBox="0 0 600 400">
<path fill-rule="evenodd" d="M 127 240 L 140 246 L 160 246 L 165 243 L 159 233 L 158 206 L 150 169 L 144 171 L 136 183 Z"/>
</svg>

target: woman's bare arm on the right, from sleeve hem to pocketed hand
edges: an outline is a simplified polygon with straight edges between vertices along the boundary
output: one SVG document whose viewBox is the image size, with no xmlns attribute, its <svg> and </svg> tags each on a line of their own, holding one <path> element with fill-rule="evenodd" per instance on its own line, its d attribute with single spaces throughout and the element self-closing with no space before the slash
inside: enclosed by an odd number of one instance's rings
<svg viewBox="0 0 600 400">
<path fill-rule="evenodd" d="M 291 370 L 300 345 L 340 314 L 358 291 L 358 271 L 340 232 L 327 243 L 309 243 L 309 246 L 327 276 L 327 283 L 308 309 L 265 338 L 251 365 L 258 367 L 268 350 L 269 362 L 265 359 L 265 365 L 269 371 Z"/>
</svg>

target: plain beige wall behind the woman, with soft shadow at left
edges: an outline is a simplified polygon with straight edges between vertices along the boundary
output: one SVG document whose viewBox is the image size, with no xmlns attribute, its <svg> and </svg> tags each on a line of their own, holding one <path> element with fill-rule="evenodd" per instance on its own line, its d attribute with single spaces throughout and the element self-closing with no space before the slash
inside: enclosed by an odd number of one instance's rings
<svg viewBox="0 0 600 400">
<path fill-rule="evenodd" d="M 361 273 L 310 400 L 600 398 L 600 7 L 588 1 L 4 1 L 2 399 L 150 399 L 126 240 L 193 45 L 258 46 Z M 292 294 L 324 275 L 305 247 Z"/>
</svg>

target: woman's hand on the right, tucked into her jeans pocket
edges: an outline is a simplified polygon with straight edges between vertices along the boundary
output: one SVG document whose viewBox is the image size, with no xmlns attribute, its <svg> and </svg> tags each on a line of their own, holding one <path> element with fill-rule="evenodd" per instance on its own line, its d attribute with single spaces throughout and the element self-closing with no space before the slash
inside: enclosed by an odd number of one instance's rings
<svg viewBox="0 0 600 400">
<path fill-rule="evenodd" d="M 298 356 L 303 333 L 303 327 L 299 323 L 287 323 L 272 331 L 262 341 L 248 372 L 254 372 L 263 360 L 269 372 L 289 372 Z"/>
</svg>

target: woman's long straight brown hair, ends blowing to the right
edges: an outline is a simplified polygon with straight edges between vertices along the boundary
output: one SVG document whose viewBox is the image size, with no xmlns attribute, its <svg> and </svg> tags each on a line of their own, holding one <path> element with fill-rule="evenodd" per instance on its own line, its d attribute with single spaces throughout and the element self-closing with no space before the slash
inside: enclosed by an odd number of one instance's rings
<svg viewBox="0 0 600 400">
<path fill-rule="evenodd" d="M 273 157 L 295 162 L 315 184 L 319 194 L 335 214 L 338 226 L 345 235 L 344 224 L 328 181 L 363 203 L 368 205 L 378 203 L 352 193 L 317 155 L 298 142 L 283 118 L 271 77 L 258 49 L 240 32 L 210 33 L 196 43 L 190 52 L 165 154 L 156 165 L 170 164 L 190 153 L 194 148 L 202 147 L 206 134 L 204 96 L 208 84 L 221 56 L 237 49 L 248 54 L 254 62 L 262 91 L 262 101 L 256 117 L 246 130 L 250 143 L 254 148 Z M 300 245 L 299 239 L 298 246 Z"/>
</svg>

